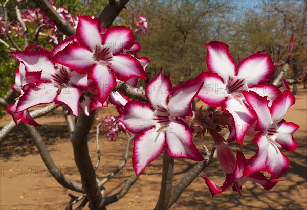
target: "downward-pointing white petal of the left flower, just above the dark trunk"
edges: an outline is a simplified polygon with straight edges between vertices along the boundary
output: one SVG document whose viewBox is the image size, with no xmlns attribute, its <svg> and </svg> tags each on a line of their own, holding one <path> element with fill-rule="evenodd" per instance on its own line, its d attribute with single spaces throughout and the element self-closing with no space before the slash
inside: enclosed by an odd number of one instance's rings
<svg viewBox="0 0 307 210">
<path fill-rule="evenodd" d="M 75 87 L 64 87 L 61 92 L 55 97 L 56 104 L 65 105 L 73 115 L 79 116 L 79 100 L 81 91 Z"/>
</svg>

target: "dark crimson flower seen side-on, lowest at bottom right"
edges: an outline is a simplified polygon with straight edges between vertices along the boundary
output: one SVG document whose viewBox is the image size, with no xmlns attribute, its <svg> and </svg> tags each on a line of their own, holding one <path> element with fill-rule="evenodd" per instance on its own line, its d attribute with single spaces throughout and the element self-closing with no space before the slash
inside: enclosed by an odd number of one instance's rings
<svg viewBox="0 0 307 210">
<path fill-rule="evenodd" d="M 247 165 L 246 159 L 243 153 L 239 152 L 238 150 L 236 158 L 237 159 L 235 170 L 233 171 L 233 173 L 226 175 L 226 180 L 223 183 L 223 186 L 219 187 L 214 184 L 214 182 L 211 181 L 208 177 L 203 176 L 212 195 L 212 198 L 214 197 L 214 195 L 223 193 L 224 191 L 229 190 L 231 187 L 233 191 L 238 192 L 239 196 L 242 197 L 242 185 L 248 180 L 261 184 L 267 191 L 271 190 L 278 181 L 281 181 L 278 179 L 268 180 L 261 172 L 255 172 L 253 174 L 250 174 L 249 176 L 243 176 L 244 169 Z"/>
</svg>

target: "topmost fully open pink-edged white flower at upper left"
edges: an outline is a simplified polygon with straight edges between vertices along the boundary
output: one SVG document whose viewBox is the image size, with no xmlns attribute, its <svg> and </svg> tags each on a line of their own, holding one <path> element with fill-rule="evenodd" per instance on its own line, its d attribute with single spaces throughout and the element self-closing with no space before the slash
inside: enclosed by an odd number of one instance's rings
<svg viewBox="0 0 307 210">
<path fill-rule="evenodd" d="M 123 53 L 135 43 L 130 28 L 115 26 L 101 34 L 100 27 L 98 18 L 80 16 L 76 32 L 79 42 L 55 54 L 54 61 L 79 74 L 89 73 L 89 78 L 96 83 L 99 101 L 103 103 L 116 86 L 116 78 L 125 82 L 133 77 L 144 79 L 147 74 L 136 58 Z"/>
</svg>

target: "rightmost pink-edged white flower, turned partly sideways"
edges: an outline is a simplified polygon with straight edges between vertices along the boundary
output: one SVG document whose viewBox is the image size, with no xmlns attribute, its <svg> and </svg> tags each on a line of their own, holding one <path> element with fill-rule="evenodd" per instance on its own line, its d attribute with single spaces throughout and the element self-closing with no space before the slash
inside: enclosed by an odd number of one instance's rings
<svg viewBox="0 0 307 210">
<path fill-rule="evenodd" d="M 269 107 L 266 97 L 252 91 L 244 91 L 243 95 L 257 114 L 256 130 L 260 131 L 253 139 L 258 146 L 258 152 L 248 161 L 244 175 L 267 170 L 273 179 L 279 178 L 289 168 L 289 160 L 281 153 L 280 148 L 288 151 L 297 148 L 293 133 L 299 126 L 283 119 L 289 107 L 294 104 L 295 98 L 286 90 Z"/>
</svg>

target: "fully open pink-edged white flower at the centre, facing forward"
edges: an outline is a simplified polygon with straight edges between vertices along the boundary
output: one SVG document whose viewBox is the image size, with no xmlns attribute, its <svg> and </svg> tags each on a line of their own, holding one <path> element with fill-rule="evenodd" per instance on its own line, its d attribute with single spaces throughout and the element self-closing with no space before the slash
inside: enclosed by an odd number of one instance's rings
<svg viewBox="0 0 307 210">
<path fill-rule="evenodd" d="M 128 131 L 138 134 L 134 140 L 133 168 L 138 176 L 163 151 L 171 157 L 203 160 L 192 141 L 192 132 L 182 120 L 192 116 L 191 103 L 202 83 L 178 85 L 162 71 L 147 85 L 145 94 L 152 106 L 129 101 L 118 117 Z M 168 100 L 170 94 L 172 98 Z"/>
</svg>

